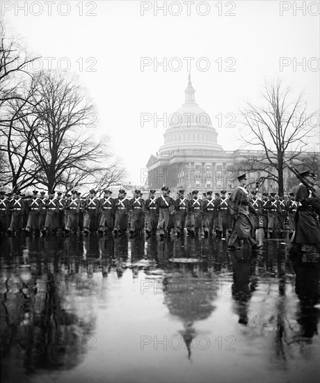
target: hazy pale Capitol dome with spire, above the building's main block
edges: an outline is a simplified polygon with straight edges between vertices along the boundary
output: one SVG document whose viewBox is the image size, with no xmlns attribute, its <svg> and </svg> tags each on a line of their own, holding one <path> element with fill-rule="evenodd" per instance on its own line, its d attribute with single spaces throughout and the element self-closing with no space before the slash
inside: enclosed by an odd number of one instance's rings
<svg viewBox="0 0 320 383">
<path fill-rule="evenodd" d="M 191 84 L 190 74 L 184 93 L 186 94 L 184 104 L 169 116 L 170 127 L 163 134 L 164 145 L 159 148 L 159 153 L 195 148 L 223 150 L 217 143 L 218 133 L 212 127 L 209 115 L 195 102 L 195 90 Z"/>
</svg>

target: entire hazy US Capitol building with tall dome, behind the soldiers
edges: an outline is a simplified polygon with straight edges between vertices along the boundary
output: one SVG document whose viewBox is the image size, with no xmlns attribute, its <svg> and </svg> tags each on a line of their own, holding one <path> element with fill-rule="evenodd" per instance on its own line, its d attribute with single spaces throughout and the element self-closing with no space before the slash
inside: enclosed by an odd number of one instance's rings
<svg viewBox="0 0 320 383">
<path fill-rule="evenodd" d="M 181 188 L 186 192 L 216 192 L 221 189 L 230 191 L 237 184 L 234 181 L 234 169 L 237 169 L 237 164 L 244 156 L 259 158 L 264 152 L 223 150 L 209 115 L 195 102 L 195 89 L 191 84 L 190 73 L 184 93 L 182 107 L 171 115 L 170 126 L 163 134 L 163 146 L 159 148 L 159 153 L 151 155 L 147 162 L 147 187 L 159 191 L 166 185 L 172 192 Z M 254 182 L 263 176 L 267 176 L 264 171 L 248 173 L 248 182 Z M 286 187 L 287 169 L 284 170 L 283 177 Z M 276 191 L 278 183 L 266 180 L 264 188 L 269 192 Z"/>
</svg>

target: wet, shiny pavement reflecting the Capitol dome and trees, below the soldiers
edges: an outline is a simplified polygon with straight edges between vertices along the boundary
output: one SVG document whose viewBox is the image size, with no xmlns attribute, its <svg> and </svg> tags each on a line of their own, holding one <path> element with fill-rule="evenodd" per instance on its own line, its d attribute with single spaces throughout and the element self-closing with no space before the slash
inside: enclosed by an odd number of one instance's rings
<svg viewBox="0 0 320 383">
<path fill-rule="evenodd" d="M 320 263 L 288 242 L 2 237 L 2 381 L 319 382 Z"/>
</svg>

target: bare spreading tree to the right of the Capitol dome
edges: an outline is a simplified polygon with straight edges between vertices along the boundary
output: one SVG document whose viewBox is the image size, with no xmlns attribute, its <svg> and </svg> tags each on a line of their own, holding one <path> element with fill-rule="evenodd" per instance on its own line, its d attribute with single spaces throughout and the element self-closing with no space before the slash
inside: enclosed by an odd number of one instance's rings
<svg viewBox="0 0 320 383">
<path fill-rule="evenodd" d="M 248 102 L 241 111 L 246 132 L 241 140 L 262 148 L 262 155 L 243 155 L 243 164 L 247 171 L 264 171 L 283 193 L 283 157 L 293 162 L 301 155 L 314 129 L 312 115 L 306 115 L 303 93 L 294 96 L 293 89 L 282 86 L 281 81 L 265 84 L 262 96 L 266 105 L 256 107 Z"/>
</svg>

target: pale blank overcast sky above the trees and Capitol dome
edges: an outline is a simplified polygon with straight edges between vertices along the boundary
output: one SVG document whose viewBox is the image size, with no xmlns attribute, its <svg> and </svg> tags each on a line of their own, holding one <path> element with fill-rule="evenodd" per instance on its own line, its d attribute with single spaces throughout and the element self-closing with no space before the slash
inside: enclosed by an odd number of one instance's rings
<svg viewBox="0 0 320 383">
<path fill-rule="evenodd" d="M 97 106 L 97 135 L 111 137 L 135 184 L 166 130 L 153 119 L 141 127 L 141 114 L 179 109 L 188 69 L 225 150 L 239 148 L 239 127 L 216 116 L 259 103 L 264 80 L 304 90 L 308 110 L 319 113 L 319 1 L 1 1 L 1 17 L 44 57 L 42 68 L 51 57 L 52 68 L 79 75 Z"/>
</svg>

